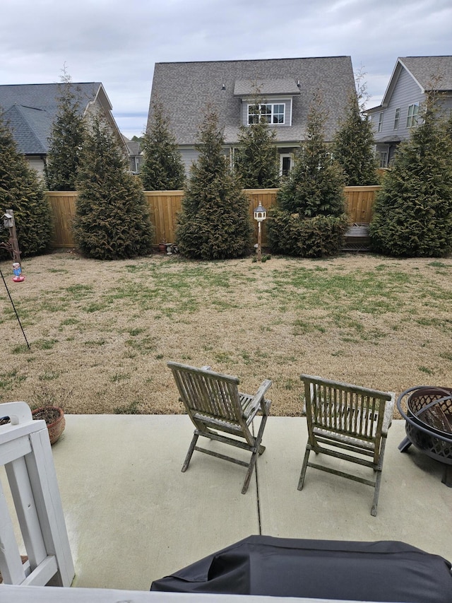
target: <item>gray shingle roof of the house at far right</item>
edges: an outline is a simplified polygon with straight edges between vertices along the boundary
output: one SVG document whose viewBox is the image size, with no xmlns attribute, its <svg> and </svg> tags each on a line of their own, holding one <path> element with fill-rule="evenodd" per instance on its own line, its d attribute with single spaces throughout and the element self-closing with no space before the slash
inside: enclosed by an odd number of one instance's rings
<svg viewBox="0 0 452 603">
<path fill-rule="evenodd" d="M 399 61 L 424 90 L 452 90 L 452 56 L 400 57 Z"/>
</svg>

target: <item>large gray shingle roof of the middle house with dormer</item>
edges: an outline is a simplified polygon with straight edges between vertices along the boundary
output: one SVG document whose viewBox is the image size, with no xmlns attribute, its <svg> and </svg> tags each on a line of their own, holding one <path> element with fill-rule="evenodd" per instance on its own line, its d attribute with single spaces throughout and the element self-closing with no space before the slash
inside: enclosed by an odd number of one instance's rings
<svg viewBox="0 0 452 603">
<path fill-rule="evenodd" d="M 237 81 L 261 83 L 270 80 L 291 82 L 293 92 L 292 127 L 276 128 L 278 138 L 298 142 L 303 139 L 309 105 L 316 90 L 322 90 L 329 112 L 326 138 L 331 139 L 342 117 L 350 89 L 355 89 L 350 57 L 306 59 L 257 59 L 250 61 L 157 63 L 154 69 L 149 115 L 153 100 L 162 101 L 170 125 L 180 145 L 197 139 L 198 126 L 210 104 L 218 112 L 227 141 L 235 142 L 240 126 L 241 99 L 234 95 Z M 300 86 L 297 87 L 299 81 Z M 242 84 L 237 83 L 237 89 Z M 294 88 L 295 86 L 295 88 Z M 242 88 L 244 90 L 244 88 Z"/>
</svg>

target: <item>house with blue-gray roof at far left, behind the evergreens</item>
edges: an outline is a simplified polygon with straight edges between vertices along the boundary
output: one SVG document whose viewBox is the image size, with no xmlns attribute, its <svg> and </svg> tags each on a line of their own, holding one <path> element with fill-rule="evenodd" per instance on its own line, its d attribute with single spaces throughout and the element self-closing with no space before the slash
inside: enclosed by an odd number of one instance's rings
<svg viewBox="0 0 452 603">
<path fill-rule="evenodd" d="M 4 121 L 13 132 L 18 150 L 28 163 L 42 175 L 49 149 L 49 136 L 57 115 L 58 97 L 64 83 L 11 84 L 0 86 L 0 110 Z M 102 83 L 73 83 L 73 94 L 80 98 L 80 110 L 89 119 L 101 114 L 109 123 L 124 155 L 128 156 L 126 143 L 112 114 L 112 103 Z"/>
</svg>

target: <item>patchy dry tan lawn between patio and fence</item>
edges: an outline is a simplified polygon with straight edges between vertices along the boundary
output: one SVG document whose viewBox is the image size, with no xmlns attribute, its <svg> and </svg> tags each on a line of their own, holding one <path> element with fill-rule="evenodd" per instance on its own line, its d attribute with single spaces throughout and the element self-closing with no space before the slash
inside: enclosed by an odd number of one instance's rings
<svg viewBox="0 0 452 603">
<path fill-rule="evenodd" d="M 400 393 L 452 385 L 452 259 L 98 262 L 57 252 L 0 264 L 0 400 L 69 413 L 179 413 L 169 360 L 273 380 L 277 415 L 302 409 L 299 373 Z"/>
</svg>

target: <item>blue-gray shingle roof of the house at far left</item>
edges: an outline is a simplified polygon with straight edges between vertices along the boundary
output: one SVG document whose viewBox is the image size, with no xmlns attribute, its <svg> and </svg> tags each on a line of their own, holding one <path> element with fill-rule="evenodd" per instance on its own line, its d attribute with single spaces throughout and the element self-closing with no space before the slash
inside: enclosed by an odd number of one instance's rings
<svg viewBox="0 0 452 603">
<path fill-rule="evenodd" d="M 64 84 L 0 86 L 0 108 L 4 110 L 4 117 L 13 130 L 19 150 L 25 155 L 47 153 L 61 86 Z M 81 112 L 95 99 L 100 86 L 100 82 L 73 83 L 73 93 L 80 95 L 82 100 Z"/>
</svg>

